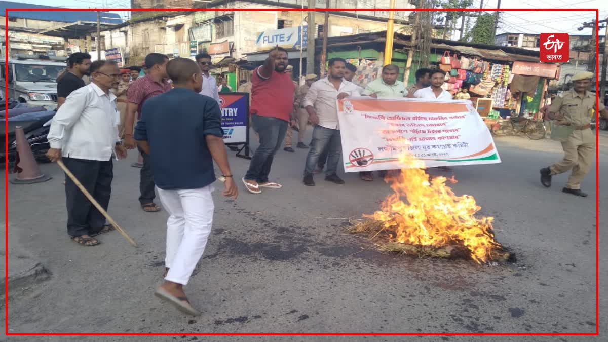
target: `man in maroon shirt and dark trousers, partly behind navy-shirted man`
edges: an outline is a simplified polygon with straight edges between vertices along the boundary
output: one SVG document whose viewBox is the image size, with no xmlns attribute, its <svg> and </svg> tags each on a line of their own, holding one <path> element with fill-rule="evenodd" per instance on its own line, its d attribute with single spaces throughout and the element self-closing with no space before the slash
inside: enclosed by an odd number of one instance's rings
<svg viewBox="0 0 608 342">
<path fill-rule="evenodd" d="M 133 149 L 136 147 L 133 139 L 133 124 L 135 121 L 135 113 L 138 113 L 138 119 L 141 117 L 143 104 L 154 96 L 159 96 L 171 90 L 171 85 L 168 82 L 167 62 L 169 58 L 162 54 L 149 54 L 146 56 L 145 65 L 148 70 L 144 77 L 135 80 L 129 86 L 129 91 L 126 95 L 126 116 L 125 116 L 125 147 Z M 171 115 L 171 112 L 167 112 Z M 156 192 L 154 192 L 154 177 L 150 167 L 150 158 L 140 148 L 143 158 L 143 167 L 139 172 L 139 204 L 145 212 L 161 211 L 161 207 L 154 203 Z"/>
</svg>

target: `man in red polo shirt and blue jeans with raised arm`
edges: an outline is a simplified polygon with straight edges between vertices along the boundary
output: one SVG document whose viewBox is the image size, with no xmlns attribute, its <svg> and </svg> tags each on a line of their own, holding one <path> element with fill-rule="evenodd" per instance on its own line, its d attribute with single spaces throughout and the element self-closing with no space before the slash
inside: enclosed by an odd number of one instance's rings
<svg viewBox="0 0 608 342">
<path fill-rule="evenodd" d="M 250 112 L 254 130 L 260 135 L 260 147 L 255 150 L 243 184 L 252 194 L 260 194 L 260 187 L 282 187 L 281 184 L 269 181 L 268 175 L 288 125 L 295 125 L 295 85 L 291 76 L 285 72 L 287 63 L 287 51 L 277 46 L 269 53 L 264 65 L 255 69 L 251 77 Z"/>
</svg>

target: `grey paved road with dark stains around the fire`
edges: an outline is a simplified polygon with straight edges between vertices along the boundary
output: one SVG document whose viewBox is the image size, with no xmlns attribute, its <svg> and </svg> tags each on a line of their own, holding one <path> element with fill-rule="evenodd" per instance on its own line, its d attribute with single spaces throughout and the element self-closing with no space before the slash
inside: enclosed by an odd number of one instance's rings
<svg viewBox="0 0 608 342">
<path fill-rule="evenodd" d="M 608 134 L 601 132 L 600 167 L 607 167 Z M 12 291 L 10 332 L 595 332 L 595 173 L 589 198 L 539 184 L 538 170 L 561 157 L 559 144 L 497 140 L 502 164 L 458 167 L 453 187 L 471 194 L 482 214 L 496 217 L 496 237 L 516 251 L 515 265 L 416 260 L 379 254 L 344 231 L 345 218 L 378 208 L 390 189 L 379 180 L 317 187 L 301 183 L 305 158 L 280 151 L 272 176 L 282 190 L 236 202 L 215 194 L 216 216 L 207 250 L 187 286 L 203 315 L 188 318 L 152 295 L 164 270 L 165 212 L 137 205 L 138 169 L 115 166 L 110 213 L 140 247 L 120 234 L 82 248 L 67 239 L 64 193 L 54 178 L 33 186 L 9 184 L 12 239 L 38 257 L 49 281 Z M 130 159 L 135 156 L 131 155 Z M 248 165 L 230 158 L 235 175 Z M 442 174 L 442 173 L 437 173 Z M 10 175 L 13 176 L 13 175 Z M 601 181 L 602 185 L 606 181 Z M 242 187 L 241 187 L 242 188 Z M 606 194 L 600 201 L 606 201 Z M 604 202 L 605 203 L 605 202 Z M 600 231 L 606 240 L 606 229 Z M 14 236 L 14 237 L 13 237 Z M 604 264 L 606 253 L 600 256 Z M 606 269 L 601 270 L 606 290 Z M 605 299 L 601 302 L 606 307 Z M 606 319 L 600 327 L 606 334 Z M 407 338 L 413 340 L 414 338 Z M 416 338 L 440 341 L 440 337 Z M 471 341 L 471 337 L 443 337 Z M 15 341 L 123 341 L 121 337 L 28 337 Z M 130 339 L 131 341 L 137 339 Z M 156 341 L 261 341 L 262 337 L 150 337 Z M 403 341 L 406 338 L 280 338 L 281 341 Z M 483 341 L 589 341 L 591 337 L 483 338 Z M 139 340 L 137 340 L 139 341 Z M 276 339 L 275 339 L 276 341 Z"/>
</svg>

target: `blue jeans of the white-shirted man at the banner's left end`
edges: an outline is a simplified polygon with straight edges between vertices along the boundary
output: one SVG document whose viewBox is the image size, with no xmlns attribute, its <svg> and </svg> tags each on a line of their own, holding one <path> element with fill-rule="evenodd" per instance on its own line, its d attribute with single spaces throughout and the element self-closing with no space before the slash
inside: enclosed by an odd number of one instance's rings
<svg viewBox="0 0 608 342">
<path fill-rule="evenodd" d="M 325 175 L 334 175 L 340 161 L 340 154 L 342 153 L 340 130 L 332 130 L 331 128 L 317 125 L 313 130 L 313 145 L 308 150 L 308 156 L 306 156 L 305 176 L 313 174 L 314 168 L 317 166 L 324 150 L 327 151 Z"/>
</svg>

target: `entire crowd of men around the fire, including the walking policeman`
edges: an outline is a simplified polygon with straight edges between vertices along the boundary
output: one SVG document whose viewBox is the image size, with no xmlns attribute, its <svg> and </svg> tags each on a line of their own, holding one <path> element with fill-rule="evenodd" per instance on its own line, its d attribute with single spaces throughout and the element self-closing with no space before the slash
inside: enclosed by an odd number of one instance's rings
<svg viewBox="0 0 608 342">
<path fill-rule="evenodd" d="M 184 285 L 204 252 L 213 223 L 213 162 L 221 172 L 223 195 L 236 199 L 224 148 L 219 92 L 231 91 L 223 80 L 218 85 L 210 74 L 211 57 L 199 54 L 196 61 L 169 58 L 162 54 L 145 57 L 139 69 L 119 69 L 106 60 L 91 62 L 91 56 L 72 54 L 68 69 L 58 77 L 58 110 L 48 139 L 50 161 L 63 159 L 66 167 L 103 209 L 108 208 L 113 179 L 112 162 L 137 148 L 142 156 L 139 204 L 145 212 L 158 212 L 156 194 L 169 214 L 164 284 L 156 296 L 190 315 L 198 312 L 190 305 Z M 328 61 L 326 77 L 305 75 L 299 86 L 292 79 L 288 54 L 280 47 L 269 52 L 264 64 L 255 68 L 250 81 L 238 91 L 250 93 L 250 120 L 257 133 L 255 150 L 246 174 L 241 178 L 247 192 L 281 189 L 271 180 L 275 154 L 282 147 L 292 152 L 292 128 L 298 133 L 297 148 L 308 149 L 303 163 L 303 184 L 315 186 L 314 175 L 325 169 L 325 181 L 344 184 L 337 174 L 342 155 L 336 99 L 416 97 L 452 100 L 442 86 L 446 73 L 440 69 L 418 69 L 416 83 L 409 88 L 398 80 L 399 68 L 386 65 L 381 77 L 362 88 L 352 82 L 357 69 L 342 58 Z M 89 75 L 86 85 L 83 76 Z M 593 76 L 593 75 L 591 75 Z M 562 143 L 566 156 L 561 163 L 541 170 L 542 184 L 551 185 L 551 176 L 573 169 L 567 188 L 581 194 L 582 177 L 589 170 L 589 120 L 585 110 L 592 108 L 593 95 L 585 88 L 590 76 L 575 75 L 575 88 L 553 102 L 554 119 L 573 124 L 571 136 Z M 466 87 L 455 99 L 468 99 Z M 582 103 L 581 107 L 576 107 Z M 564 110 L 564 106 L 567 107 Z M 583 108 L 584 107 L 584 108 Z M 578 110 L 580 109 L 580 110 Z M 599 111 L 608 116 L 601 106 Z M 306 126 L 313 125 L 312 141 L 304 143 Z M 565 124 L 564 124 L 565 125 Z M 574 137 L 574 138 L 572 138 Z M 371 172 L 361 172 L 371 181 Z M 99 234 L 114 227 L 66 176 L 67 234 L 80 246 L 98 245 Z"/>
</svg>

